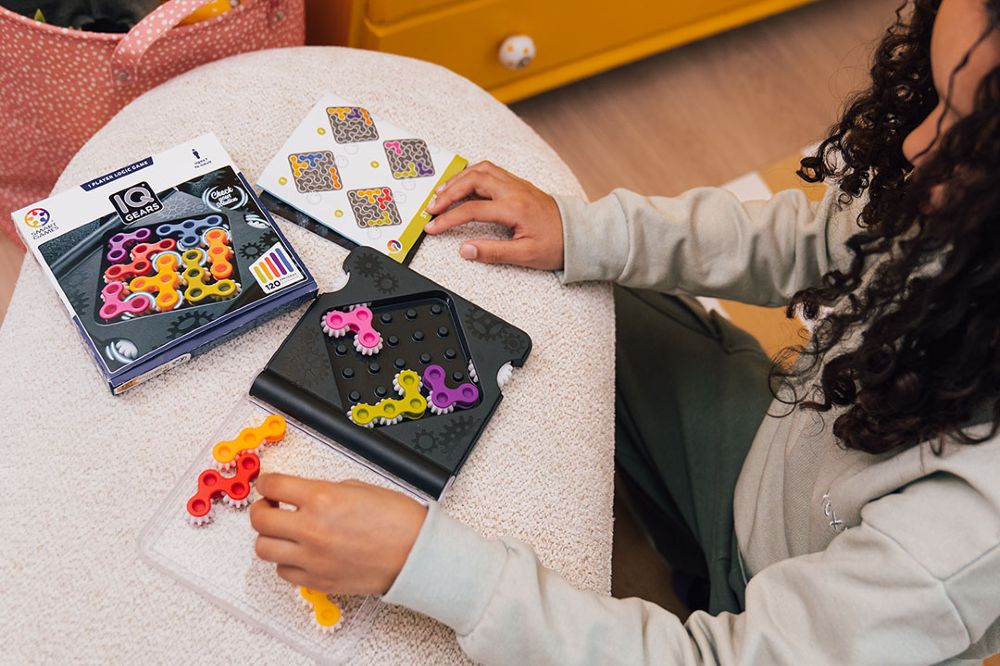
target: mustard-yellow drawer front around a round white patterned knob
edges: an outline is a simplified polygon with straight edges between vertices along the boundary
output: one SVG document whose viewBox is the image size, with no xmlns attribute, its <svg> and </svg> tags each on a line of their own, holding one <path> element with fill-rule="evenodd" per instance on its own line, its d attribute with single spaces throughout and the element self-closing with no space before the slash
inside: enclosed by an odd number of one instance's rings
<svg viewBox="0 0 1000 666">
<path fill-rule="evenodd" d="M 359 44 L 362 48 L 436 62 L 484 88 L 495 89 L 521 77 L 535 76 L 743 7 L 796 3 L 472 0 L 456 4 L 446 0 L 418 0 L 418 4 L 432 9 L 391 23 L 372 19 L 376 4 L 369 5 L 362 26 Z M 406 4 L 402 0 L 382 0 L 380 11 L 402 11 Z M 516 34 L 531 37 L 537 55 L 523 70 L 512 71 L 500 64 L 497 51 L 505 38 Z"/>
</svg>

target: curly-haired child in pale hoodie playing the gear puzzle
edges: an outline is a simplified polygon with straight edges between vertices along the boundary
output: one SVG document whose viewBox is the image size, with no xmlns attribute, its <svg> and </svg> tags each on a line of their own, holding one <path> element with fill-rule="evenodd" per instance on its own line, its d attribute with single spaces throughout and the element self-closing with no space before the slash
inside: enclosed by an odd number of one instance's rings
<svg viewBox="0 0 1000 666">
<path fill-rule="evenodd" d="M 675 566 L 707 578 L 710 613 L 682 624 L 575 590 L 523 543 L 358 482 L 261 476 L 258 555 L 295 584 L 385 593 L 490 663 L 1000 650 L 1000 0 L 914 0 L 902 16 L 871 88 L 802 162 L 835 185 L 816 206 L 713 188 L 586 204 L 488 163 L 433 202 L 432 234 L 513 230 L 463 244 L 467 259 L 630 288 L 616 292 L 617 459 Z M 787 303 L 812 339 L 769 369 L 677 294 Z M 640 336 L 656 354 L 636 357 Z"/>
</svg>

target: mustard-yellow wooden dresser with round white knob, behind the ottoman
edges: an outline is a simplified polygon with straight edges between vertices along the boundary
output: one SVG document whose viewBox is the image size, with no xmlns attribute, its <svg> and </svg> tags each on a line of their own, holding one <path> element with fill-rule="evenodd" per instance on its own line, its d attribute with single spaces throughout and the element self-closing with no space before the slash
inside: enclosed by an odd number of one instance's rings
<svg viewBox="0 0 1000 666">
<path fill-rule="evenodd" d="M 810 1 L 307 0 L 307 30 L 310 44 L 444 65 L 512 102 Z M 502 47 L 523 51 L 520 68 Z"/>
</svg>

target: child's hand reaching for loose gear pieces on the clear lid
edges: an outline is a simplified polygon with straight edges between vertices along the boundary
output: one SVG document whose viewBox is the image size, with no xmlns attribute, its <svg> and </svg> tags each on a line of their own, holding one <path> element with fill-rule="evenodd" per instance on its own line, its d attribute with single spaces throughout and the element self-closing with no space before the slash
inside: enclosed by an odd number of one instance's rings
<svg viewBox="0 0 1000 666">
<path fill-rule="evenodd" d="M 426 507 L 360 481 L 261 474 L 250 507 L 257 556 L 295 585 L 335 594 L 384 594 L 410 554 Z M 296 511 L 280 509 L 292 504 Z"/>
</svg>

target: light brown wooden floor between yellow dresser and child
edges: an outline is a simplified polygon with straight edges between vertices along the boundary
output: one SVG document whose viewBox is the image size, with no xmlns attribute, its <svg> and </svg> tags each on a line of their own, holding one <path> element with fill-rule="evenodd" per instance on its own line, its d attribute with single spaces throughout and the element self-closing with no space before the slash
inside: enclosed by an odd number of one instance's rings
<svg viewBox="0 0 1000 666">
<path fill-rule="evenodd" d="M 897 4 L 821 0 L 513 109 L 591 198 L 615 187 L 672 195 L 721 184 L 823 136 L 845 96 L 865 84 L 871 48 Z M 757 334 L 777 321 L 760 309 L 731 310 Z M 687 614 L 669 569 L 618 500 L 612 590 Z"/>
</svg>

